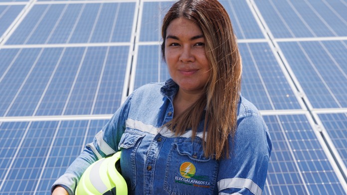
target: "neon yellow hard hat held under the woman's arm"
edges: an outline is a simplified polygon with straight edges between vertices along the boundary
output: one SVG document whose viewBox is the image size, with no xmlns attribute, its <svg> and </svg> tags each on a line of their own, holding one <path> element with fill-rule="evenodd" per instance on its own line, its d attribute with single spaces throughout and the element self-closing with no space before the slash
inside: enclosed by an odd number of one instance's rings
<svg viewBox="0 0 347 195">
<path fill-rule="evenodd" d="M 127 183 L 120 174 L 121 152 L 100 159 L 83 173 L 76 195 L 127 195 Z"/>
</svg>

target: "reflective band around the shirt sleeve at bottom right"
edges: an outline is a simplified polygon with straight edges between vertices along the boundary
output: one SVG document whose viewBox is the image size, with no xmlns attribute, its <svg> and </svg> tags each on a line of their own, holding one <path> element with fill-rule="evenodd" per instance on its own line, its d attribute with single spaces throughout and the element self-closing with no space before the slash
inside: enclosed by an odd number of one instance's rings
<svg viewBox="0 0 347 195">
<path fill-rule="evenodd" d="M 228 188 L 247 188 L 254 195 L 261 195 L 262 190 L 259 186 L 250 179 L 244 178 L 231 178 L 224 179 L 218 182 L 218 191 L 228 189 Z"/>
</svg>

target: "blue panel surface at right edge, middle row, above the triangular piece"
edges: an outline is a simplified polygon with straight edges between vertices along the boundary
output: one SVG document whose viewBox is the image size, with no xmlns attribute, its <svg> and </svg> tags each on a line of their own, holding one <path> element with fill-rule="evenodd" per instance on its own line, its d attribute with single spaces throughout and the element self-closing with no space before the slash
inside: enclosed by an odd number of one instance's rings
<svg viewBox="0 0 347 195">
<path fill-rule="evenodd" d="M 346 41 L 279 45 L 314 108 L 347 107 Z M 336 54 L 330 51 L 333 47 Z"/>
</svg>

